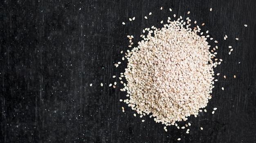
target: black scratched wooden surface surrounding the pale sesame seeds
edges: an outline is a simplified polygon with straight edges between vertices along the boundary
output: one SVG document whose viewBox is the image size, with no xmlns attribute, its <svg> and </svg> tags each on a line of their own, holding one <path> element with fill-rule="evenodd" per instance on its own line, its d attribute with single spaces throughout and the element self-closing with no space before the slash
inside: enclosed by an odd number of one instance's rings
<svg viewBox="0 0 256 143">
<path fill-rule="evenodd" d="M 0 142 L 255 143 L 255 6 L 254 0 L 1 1 Z M 119 102 L 126 93 L 112 78 L 127 62 L 114 67 L 124 56 L 120 51 L 130 49 L 126 35 L 137 43 L 143 28 L 160 27 L 174 13 L 185 19 L 187 11 L 219 41 L 209 43 L 218 45 L 217 57 L 223 59 L 214 69 L 220 76 L 208 112 L 178 123 L 190 122 L 190 134 L 175 126 L 165 132 L 149 116 L 134 117 L 135 111 Z M 116 89 L 108 87 L 115 81 Z"/>
</svg>

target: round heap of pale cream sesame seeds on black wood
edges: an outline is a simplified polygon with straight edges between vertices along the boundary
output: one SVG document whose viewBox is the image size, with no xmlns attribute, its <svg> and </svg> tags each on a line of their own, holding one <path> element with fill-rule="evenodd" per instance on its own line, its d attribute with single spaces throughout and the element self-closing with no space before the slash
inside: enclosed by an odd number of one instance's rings
<svg viewBox="0 0 256 143">
<path fill-rule="evenodd" d="M 170 125 L 198 115 L 207 106 L 213 88 L 213 66 L 207 38 L 179 20 L 157 29 L 128 51 L 124 91 L 128 106 Z M 197 31 L 197 30 L 195 30 Z"/>
</svg>

